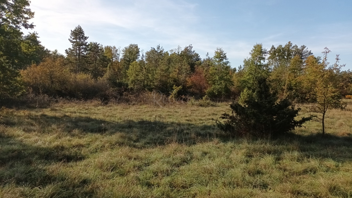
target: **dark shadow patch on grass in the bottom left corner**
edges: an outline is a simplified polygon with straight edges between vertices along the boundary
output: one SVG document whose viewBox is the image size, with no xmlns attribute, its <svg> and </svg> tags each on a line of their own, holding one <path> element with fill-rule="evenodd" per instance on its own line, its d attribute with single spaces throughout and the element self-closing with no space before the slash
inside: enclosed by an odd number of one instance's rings
<svg viewBox="0 0 352 198">
<path fill-rule="evenodd" d="M 19 189 L 0 197 L 32 197 L 33 193 L 49 187 L 45 197 L 92 197 L 94 191 L 87 188 L 91 184 L 89 178 L 81 177 L 70 181 L 64 174 L 48 170 L 49 165 L 78 162 L 86 159 L 79 150 L 67 150 L 63 147 L 40 147 L 22 143 L 13 137 L 0 134 L 0 186 L 16 186 Z M 72 180 L 72 179 L 71 179 Z M 68 182 L 70 181 L 70 182 Z M 61 189 L 50 189 L 61 183 Z M 64 194 L 58 196 L 64 189 Z M 40 194 L 40 193 L 39 193 Z"/>
</svg>

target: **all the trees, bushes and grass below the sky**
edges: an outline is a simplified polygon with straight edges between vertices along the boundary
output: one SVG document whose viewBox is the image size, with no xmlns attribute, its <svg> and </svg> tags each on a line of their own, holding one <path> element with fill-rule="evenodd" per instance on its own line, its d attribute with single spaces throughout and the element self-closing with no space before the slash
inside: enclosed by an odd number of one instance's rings
<svg viewBox="0 0 352 198">
<path fill-rule="evenodd" d="M 328 48 L 234 68 L 78 25 L 62 55 L 23 34 L 29 6 L 0 2 L 0 198 L 352 197 L 352 72 Z"/>
</svg>

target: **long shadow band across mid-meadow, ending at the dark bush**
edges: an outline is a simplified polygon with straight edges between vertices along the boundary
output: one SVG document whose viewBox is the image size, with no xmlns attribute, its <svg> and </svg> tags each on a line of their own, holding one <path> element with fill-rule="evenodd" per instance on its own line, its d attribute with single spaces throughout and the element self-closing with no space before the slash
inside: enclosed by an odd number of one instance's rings
<svg viewBox="0 0 352 198">
<path fill-rule="evenodd" d="M 25 132 L 55 133 L 84 137 L 89 134 L 121 134 L 120 144 L 134 148 L 162 146 L 168 143 L 196 144 L 211 138 L 226 138 L 215 125 L 164 122 L 161 120 L 122 120 L 109 122 L 91 117 L 29 115 L 4 116 L 0 124 L 19 127 Z M 215 131 L 215 133 L 214 133 Z M 124 139 L 124 140 L 123 140 Z"/>
</svg>

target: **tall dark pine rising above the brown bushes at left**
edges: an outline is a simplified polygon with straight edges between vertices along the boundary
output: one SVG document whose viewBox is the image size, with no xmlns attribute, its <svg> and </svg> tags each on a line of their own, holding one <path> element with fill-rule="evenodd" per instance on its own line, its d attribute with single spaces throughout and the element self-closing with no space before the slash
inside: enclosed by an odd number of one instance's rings
<svg viewBox="0 0 352 198">
<path fill-rule="evenodd" d="M 72 64 L 75 73 L 84 72 L 86 70 L 86 55 L 88 51 L 87 37 L 80 25 L 71 30 L 69 41 L 72 48 L 65 50 L 67 60 Z"/>
</svg>

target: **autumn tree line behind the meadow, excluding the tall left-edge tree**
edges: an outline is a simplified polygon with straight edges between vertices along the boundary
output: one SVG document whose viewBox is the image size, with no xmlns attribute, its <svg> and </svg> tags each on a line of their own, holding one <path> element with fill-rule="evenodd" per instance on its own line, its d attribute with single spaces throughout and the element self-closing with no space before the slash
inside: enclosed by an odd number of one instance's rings
<svg viewBox="0 0 352 198">
<path fill-rule="evenodd" d="M 317 85 L 312 78 L 329 70 L 331 74 L 324 85 L 336 88 L 341 96 L 352 91 L 351 72 L 329 65 L 328 49 L 324 59 L 313 55 L 305 45 L 298 47 L 288 42 L 267 50 L 262 44 L 255 44 L 243 66 L 231 68 L 222 48 L 217 48 L 212 57 L 207 54 L 201 59 L 192 45 L 169 51 L 158 45 L 143 53 L 137 44 L 121 50 L 97 42 L 88 43 L 87 39 L 82 27 L 77 26 L 71 31 L 72 47 L 65 50 L 65 55 L 45 50 L 37 61 L 24 64 L 21 74 L 26 86 L 37 93 L 67 96 L 70 79 L 82 78 L 129 91 L 158 90 L 168 94 L 174 87 L 180 87 L 179 95 L 229 99 L 247 92 L 254 86 L 254 79 L 265 77 L 279 98 L 314 102 Z M 337 57 L 335 64 L 339 60 Z"/>
</svg>

